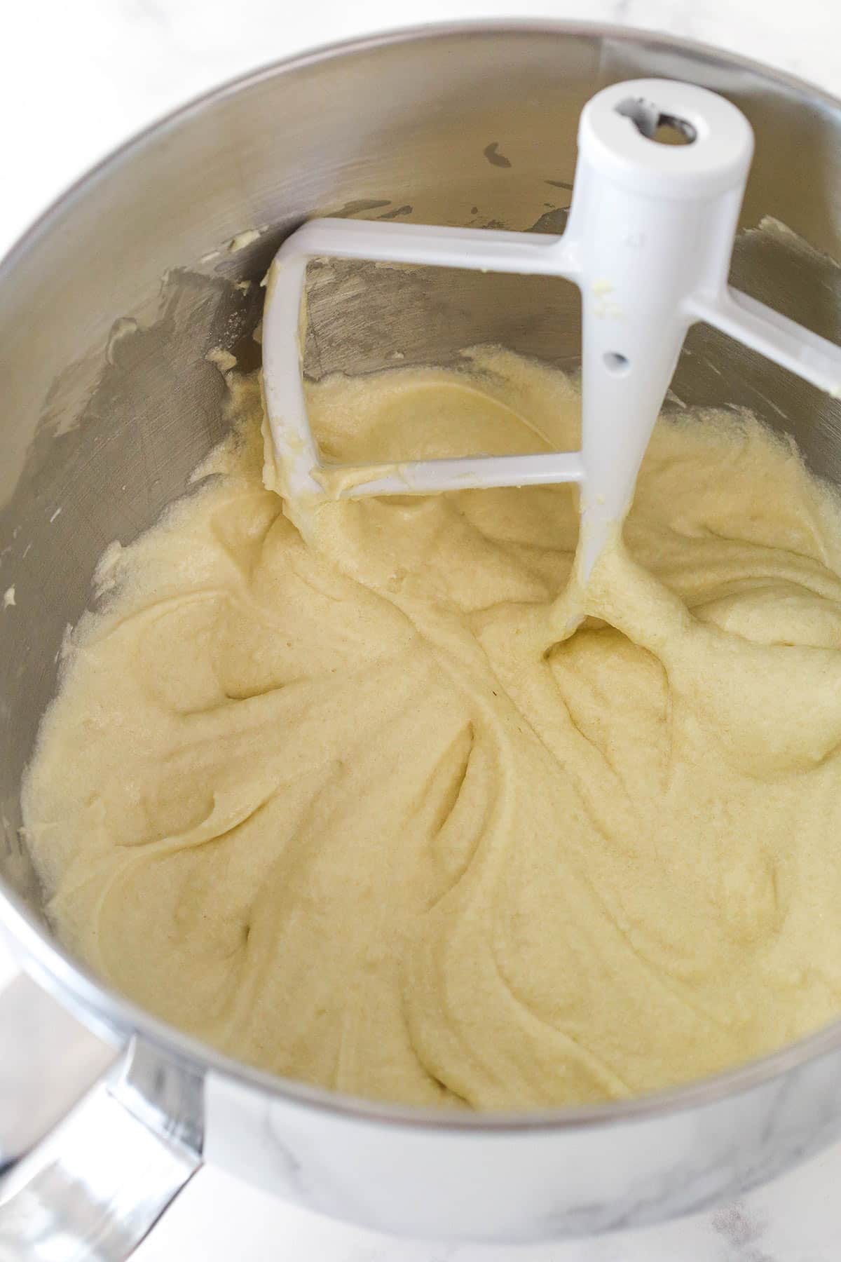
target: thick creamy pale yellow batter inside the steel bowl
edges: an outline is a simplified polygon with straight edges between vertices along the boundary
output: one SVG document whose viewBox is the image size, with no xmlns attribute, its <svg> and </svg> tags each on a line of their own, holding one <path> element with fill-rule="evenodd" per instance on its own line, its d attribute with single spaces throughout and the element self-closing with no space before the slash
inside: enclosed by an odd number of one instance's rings
<svg viewBox="0 0 841 1262">
<path fill-rule="evenodd" d="M 633 1095 L 835 1017 L 841 506 L 794 452 L 661 422 L 581 593 L 567 487 L 328 504 L 304 545 L 232 386 L 42 726 L 62 939 L 235 1056 L 419 1104 Z M 504 352 L 310 414 L 344 459 L 577 444 L 570 384 Z"/>
</svg>

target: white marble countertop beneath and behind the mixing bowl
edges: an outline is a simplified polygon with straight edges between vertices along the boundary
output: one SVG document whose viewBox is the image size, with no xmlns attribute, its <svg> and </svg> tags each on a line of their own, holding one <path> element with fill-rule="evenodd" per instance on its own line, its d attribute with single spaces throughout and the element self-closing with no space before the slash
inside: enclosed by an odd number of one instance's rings
<svg viewBox="0 0 841 1262">
<path fill-rule="evenodd" d="M 586 18 L 668 30 L 841 88 L 835 0 L 40 0 L 4 9 L 0 252 L 86 167 L 213 83 L 412 23 Z M 0 946 L 0 984 L 13 963 Z M 525 1248 L 398 1242 L 202 1170 L 139 1262 L 837 1262 L 841 1145 L 743 1203 L 643 1232 Z"/>
</svg>

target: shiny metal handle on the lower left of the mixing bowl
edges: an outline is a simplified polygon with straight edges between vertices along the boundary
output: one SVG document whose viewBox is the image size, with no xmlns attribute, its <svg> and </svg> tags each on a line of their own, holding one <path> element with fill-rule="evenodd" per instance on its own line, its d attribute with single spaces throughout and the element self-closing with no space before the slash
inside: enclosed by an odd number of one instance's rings
<svg viewBox="0 0 841 1262">
<path fill-rule="evenodd" d="M 130 1257 L 202 1141 L 195 1069 L 115 1051 L 28 977 L 0 992 L 0 1262 Z"/>
</svg>

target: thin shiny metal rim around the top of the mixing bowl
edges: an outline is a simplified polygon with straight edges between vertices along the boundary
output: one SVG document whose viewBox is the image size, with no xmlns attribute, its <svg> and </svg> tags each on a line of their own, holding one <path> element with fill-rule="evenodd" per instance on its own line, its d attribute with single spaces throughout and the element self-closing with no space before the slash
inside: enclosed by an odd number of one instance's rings
<svg viewBox="0 0 841 1262">
<path fill-rule="evenodd" d="M 55 197 L 33 221 L 10 250 L 0 259 L 0 285 L 11 283 L 14 271 L 49 235 L 74 203 L 97 183 L 124 163 L 139 158 L 146 145 L 166 133 L 180 127 L 190 117 L 214 107 L 229 96 L 256 85 L 329 62 L 364 52 L 409 43 L 434 43 L 453 37 L 484 35 L 547 35 L 555 38 L 610 39 L 638 47 L 652 47 L 661 52 L 676 52 L 706 59 L 731 71 L 745 71 L 764 78 L 769 86 L 787 87 L 801 95 L 812 109 L 823 106 L 841 112 L 841 100 L 823 88 L 764 66 L 740 54 L 682 37 L 667 35 L 643 28 L 620 27 L 610 23 L 556 20 L 556 19 L 472 19 L 411 25 L 353 37 L 328 43 L 280 58 L 212 87 L 170 110 L 134 133 L 112 149 Z M 617 1123 L 644 1122 L 673 1116 L 701 1106 L 711 1106 L 731 1095 L 760 1088 L 808 1061 L 837 1053 L 841 1049 L 841 1015 L 830 1025 L 777 1051 L 738 1065 L 733 1069 L 696 1079 L 678 1087 L 649 1092 L 622 1100 L 593 1104 L 559 1106 L 531 1111 L 467 1112 L 456 1109 L 431 1109 L 429 1107 L 396 1104 L 349 1095 L 328 1088 L 257 1069 L 224 1055 L 209 1044 L 184 1034 L 168 1022 L 153 1016 L 131 1000 L 111 989 L 84 965 L 67 955 L 24 900 L 0 876 L 0 931 L 8 938 L 13 955 L 23 970 L 66 1007 L 77 1020 L 101 1037 L 122 1042 L 141 1036 L 151 1047 L 169 1060 L 193 1071 L 216 1073 L 240 1087 L 257 1090 L 289 1104 L 314 1108 L 338 1114 L 348 1121 L 385 1123 L 434 1132 L 467 1132 L 487 1135 L 557 1132 L 590 1129 Z"/>
</svg>

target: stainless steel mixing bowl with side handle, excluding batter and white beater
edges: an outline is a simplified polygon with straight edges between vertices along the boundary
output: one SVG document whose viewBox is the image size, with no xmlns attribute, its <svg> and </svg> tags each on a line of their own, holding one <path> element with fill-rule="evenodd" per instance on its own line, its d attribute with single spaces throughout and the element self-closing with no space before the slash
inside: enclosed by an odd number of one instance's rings
<svg viewBox="0 0 841 1262">
<path fill-rule="evenodd" d="M 224 433 L 206 353 L 256 363 L 256 283 L 284 235 L 323 213 L 559 231 L 581 106 L 637 76 L 744 110 L 757 159 L 733 279 L 837 341 L 841 105 L 710 49 L 586 25 L 430 28 L 260 71 L 121 149 L 3 265 L 0 919 L 28 977 L 0 997 L 0 1258 L 126 1257 L 203 1160 L 386 1230 L 521 1241 L 697 1209 L 841 1132 L 841 1023 L 681 1090 L 538 1116 L 422 1114 L 271 1078 L 69 958 L 20 832 L 64 628 L 106 545 L 149 526 Z M 757 231 L 763 216 L 808 245 Z M 557 281 L 349 264 L 310 281 L 315 376 L 488 341 L 577 353 L 577 294 Z M 696 328 L 675 392 L 753 408 L 841 481 L 838 404 L 741 347 Z"/>
</svg>

